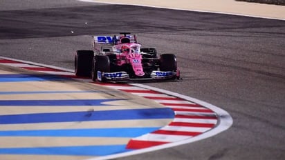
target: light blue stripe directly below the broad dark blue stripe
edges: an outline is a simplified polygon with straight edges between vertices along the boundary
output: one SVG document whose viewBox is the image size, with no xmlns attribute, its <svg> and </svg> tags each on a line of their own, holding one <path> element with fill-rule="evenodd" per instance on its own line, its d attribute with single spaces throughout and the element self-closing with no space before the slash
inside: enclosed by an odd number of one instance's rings
<svg viewBox="0 0 285 160">
<path fill-rule="evenodd" d="M 8 130 L 0 137 L 138 137 L 159 128 L 93 128 L 64 130 Z"/>
</svg>

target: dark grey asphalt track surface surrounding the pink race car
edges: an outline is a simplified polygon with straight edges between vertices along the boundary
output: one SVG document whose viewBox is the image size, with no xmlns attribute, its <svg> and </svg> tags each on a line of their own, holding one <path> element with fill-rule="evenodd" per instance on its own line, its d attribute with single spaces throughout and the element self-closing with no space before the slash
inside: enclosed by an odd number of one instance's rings
<svg viewBox="0 0 285 160">
<path fill-rule="evenodd" d="M 284 159 L 285 21 L 77 1 L 1 1 L 0 55 L 73 68 L 91 34 L 138 34 L 177 55 L 182 81 L 146 83 L 228 111 L 214 137 L 121 159 Z"/>
</svg>

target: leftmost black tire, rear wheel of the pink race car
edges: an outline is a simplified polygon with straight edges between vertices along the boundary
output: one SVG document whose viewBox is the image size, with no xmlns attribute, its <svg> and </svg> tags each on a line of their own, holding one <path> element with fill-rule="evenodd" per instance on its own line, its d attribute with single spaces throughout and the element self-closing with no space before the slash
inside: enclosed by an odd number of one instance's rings
<svg viewBox="0 0 285 160">
<path fill-rule="evenodd" d="M 91 77 L 93 50 L 77 50 L 75 54 L 75 75 L 78 77 Z"/>
</svg>

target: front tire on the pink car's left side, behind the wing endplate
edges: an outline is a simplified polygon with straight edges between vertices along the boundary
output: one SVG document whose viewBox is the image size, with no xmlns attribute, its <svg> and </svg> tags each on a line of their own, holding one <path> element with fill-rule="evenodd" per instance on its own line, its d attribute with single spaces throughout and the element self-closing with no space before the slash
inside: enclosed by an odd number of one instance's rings
<svg viewBox="0 0 285 160">
<path fill-rule="evenodd" d="M 110 59 L 106 55 L 96 55 L 92 62 L 92 81 L 98 81 L 98 71 L 110 72 Z M 101 81 L 107 81 L 102 77 Z"/>
</svg>

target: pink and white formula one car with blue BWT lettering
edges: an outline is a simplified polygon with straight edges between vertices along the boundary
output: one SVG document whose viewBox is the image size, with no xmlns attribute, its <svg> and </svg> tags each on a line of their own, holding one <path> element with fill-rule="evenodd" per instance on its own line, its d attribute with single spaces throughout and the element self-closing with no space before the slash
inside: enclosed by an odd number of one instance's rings
<svg viewBox="0 0 285 160">
<path fill-rule="evenodd" d="M 140 48 L 136 35 L 93 36 L 93 50 L 77 50 L 75 75 L 93 81 L 179 79 L 176 56 Z"/>
</svg>

